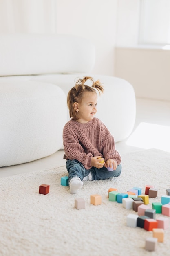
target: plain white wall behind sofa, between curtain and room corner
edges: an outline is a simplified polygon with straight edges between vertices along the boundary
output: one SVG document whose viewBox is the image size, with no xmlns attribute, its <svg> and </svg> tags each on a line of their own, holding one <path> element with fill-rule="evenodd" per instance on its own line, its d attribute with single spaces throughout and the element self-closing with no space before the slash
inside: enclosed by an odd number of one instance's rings
<svg viewBox="0 0 170 256">
<path fill-rule="evenodd" d="M 57 33 L 92 40 L 96 48 L 93 74 L 114 75 L 117 0 L 57 0 Z"/>
</svg>

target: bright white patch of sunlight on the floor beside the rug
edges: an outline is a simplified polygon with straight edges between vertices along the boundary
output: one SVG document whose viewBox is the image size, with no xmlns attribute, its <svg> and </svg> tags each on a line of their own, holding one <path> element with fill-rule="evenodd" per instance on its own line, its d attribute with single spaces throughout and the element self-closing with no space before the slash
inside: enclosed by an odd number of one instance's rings
<svg viewBox="0 0 170 256">
<path fill-rule="evenodd" d="M 170 152 L 170 126 L 140 123 L 126 144 L 138 148 L 157 148 Z"/>
</svg>

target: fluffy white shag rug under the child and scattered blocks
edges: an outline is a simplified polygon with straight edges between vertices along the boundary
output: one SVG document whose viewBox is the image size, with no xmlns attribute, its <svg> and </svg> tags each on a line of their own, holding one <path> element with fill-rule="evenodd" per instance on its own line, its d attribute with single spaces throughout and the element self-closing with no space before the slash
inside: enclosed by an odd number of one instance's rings
<svg viewBox="0 0 170 256">
<path fill-rule="evenodd" d="M 85 181 L 78 194 L 60 185 L 67 174 L 60 166 L 0 179 L 0 256 L 170 255 L 170 228 L 156 251 L 148 252 L 145 240 L 152 231 L 128 227 L 126 218 L 135 211 L 108 200 L 111 187 L 123 193 L 137 186 L 145 193 L 147 184 L 158 189 L 150 208 L 161 202 L 170 189 L 170 153 L 151 149 L 122 155 L 121 176 Z M 49 194 L 39 194 L 41 184 L 50 185 Z M 101 205 L 90 204 L 93 194 L 102 196 Z M 86 208 L 75 209 L 75 198 L 84 198 Z"/>
</svg>

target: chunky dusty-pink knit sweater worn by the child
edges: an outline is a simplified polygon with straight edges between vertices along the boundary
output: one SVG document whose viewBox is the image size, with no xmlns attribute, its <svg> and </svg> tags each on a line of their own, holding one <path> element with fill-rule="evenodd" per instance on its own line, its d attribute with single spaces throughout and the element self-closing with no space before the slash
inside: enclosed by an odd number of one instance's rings
<svg viewBox="0 0 170 256">
<path fill-rule="evenodd" d="M 94 117 L 86 124 L 70 120 L 63 129 L 64 158 L 76 159 L 88 170 L 91 158 L 101 155 L 105 162 L 114 159 L 121 162 L 119 151 L 115 149 L 115 141 L 108 128 Z"/>
</svg>

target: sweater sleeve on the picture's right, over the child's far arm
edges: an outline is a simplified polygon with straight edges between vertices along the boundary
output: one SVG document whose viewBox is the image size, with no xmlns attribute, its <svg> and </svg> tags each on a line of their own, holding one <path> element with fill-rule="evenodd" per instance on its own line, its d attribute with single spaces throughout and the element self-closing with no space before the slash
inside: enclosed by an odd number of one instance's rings
<svg viewBox="0 0 170 256">
<path fill-rule="evenodd" d="M 102 130 L 102 148 L 104 161 L 106 162 L 108 159 L 113 159 L 117 164 L 121 163 L 121 155 L 119 151 L 116 150 L 115 139 L 113 135 L 110 133 L 108 128 L 101 122 L 101 130 Z"/>
</svg>

